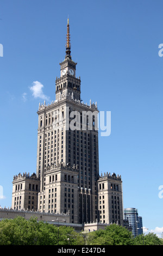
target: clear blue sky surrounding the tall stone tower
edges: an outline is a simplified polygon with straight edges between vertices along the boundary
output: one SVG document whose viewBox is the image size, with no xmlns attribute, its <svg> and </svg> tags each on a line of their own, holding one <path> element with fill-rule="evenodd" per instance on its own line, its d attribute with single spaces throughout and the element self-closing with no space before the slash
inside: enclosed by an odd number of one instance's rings
<svg viewBox="0 0 163 256">
<path fill-rule="evenodd" d="M 36 172 L 36 112 L 39 102 L 55 100 L 69 17 L 82 100 L 111 111 L 111 134 L 99 135 L 99 174 L 121 175 L 124 208 L 137 208 L 143 226 L 160 235 L 162 8 L 159 0 L 1 0 L 2 207 L 11 206 L 13 176 Z M 35 81 L 43 86 L 38 97 Z"/>
</svg>

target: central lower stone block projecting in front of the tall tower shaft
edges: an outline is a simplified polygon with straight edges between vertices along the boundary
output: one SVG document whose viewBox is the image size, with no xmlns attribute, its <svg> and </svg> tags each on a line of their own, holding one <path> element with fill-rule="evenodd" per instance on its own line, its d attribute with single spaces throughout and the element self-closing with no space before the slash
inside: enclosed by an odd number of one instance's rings
<svg viewBox="0 0 163 256">
<path fill-rule="evenodd" d="M 38 209 L 45 212 L 71 212 L 71 222 L 78 223 L 78 167 L 52 165 L 45 173 L 45 189 L 39 192 Z"/>
</svg>

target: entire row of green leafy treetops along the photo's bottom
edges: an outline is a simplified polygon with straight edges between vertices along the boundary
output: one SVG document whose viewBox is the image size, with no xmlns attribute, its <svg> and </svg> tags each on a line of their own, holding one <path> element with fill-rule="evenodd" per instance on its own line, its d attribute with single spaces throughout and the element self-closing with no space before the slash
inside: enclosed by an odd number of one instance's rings
<svg viewBox="0 0 163 256">
<path fill-rule="evenodd" d="M 133 237 L 132 233 L 116 224 L 104 230 L 77 233 L 71 227 L 57 227 L 36 218 L 23 217 L 0 221 L 0 245 L 162 245 L 155 234 Z"/>
</svg>

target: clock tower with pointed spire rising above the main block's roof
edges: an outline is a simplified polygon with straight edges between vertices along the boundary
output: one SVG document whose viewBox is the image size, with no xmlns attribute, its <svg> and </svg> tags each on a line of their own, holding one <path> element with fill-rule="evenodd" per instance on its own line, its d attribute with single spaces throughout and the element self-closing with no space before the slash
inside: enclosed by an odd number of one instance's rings
<svg viewBox="0 0 163 256">
<path fill-rule="evenodd" d="M 70 26 L 67 21 L 66 56 L 60 63 L 60 78 L 55 81 L 56 100 L 71 95 L 73 99 L 80 101 L 80 77 L 76 77 L 76 62 L 71 59 Z"/>
</svg>

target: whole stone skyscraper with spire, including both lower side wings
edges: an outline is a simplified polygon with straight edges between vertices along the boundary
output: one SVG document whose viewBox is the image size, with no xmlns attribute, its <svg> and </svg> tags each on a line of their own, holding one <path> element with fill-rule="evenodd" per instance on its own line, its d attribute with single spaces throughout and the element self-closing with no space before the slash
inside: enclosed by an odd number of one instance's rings
<svg viewBox="0 0 163 256">
<path fill-rule="evenodd" d="M 122 180 L 99 177 L 97 102 L 84 104 L 67 22 L 66 55 L 55 80 L 56 98 L 39 104 L 36 174 L 14 176 L 12 208 L 70 213 L 71 223 L 123 225 Z"/>
</svg>

